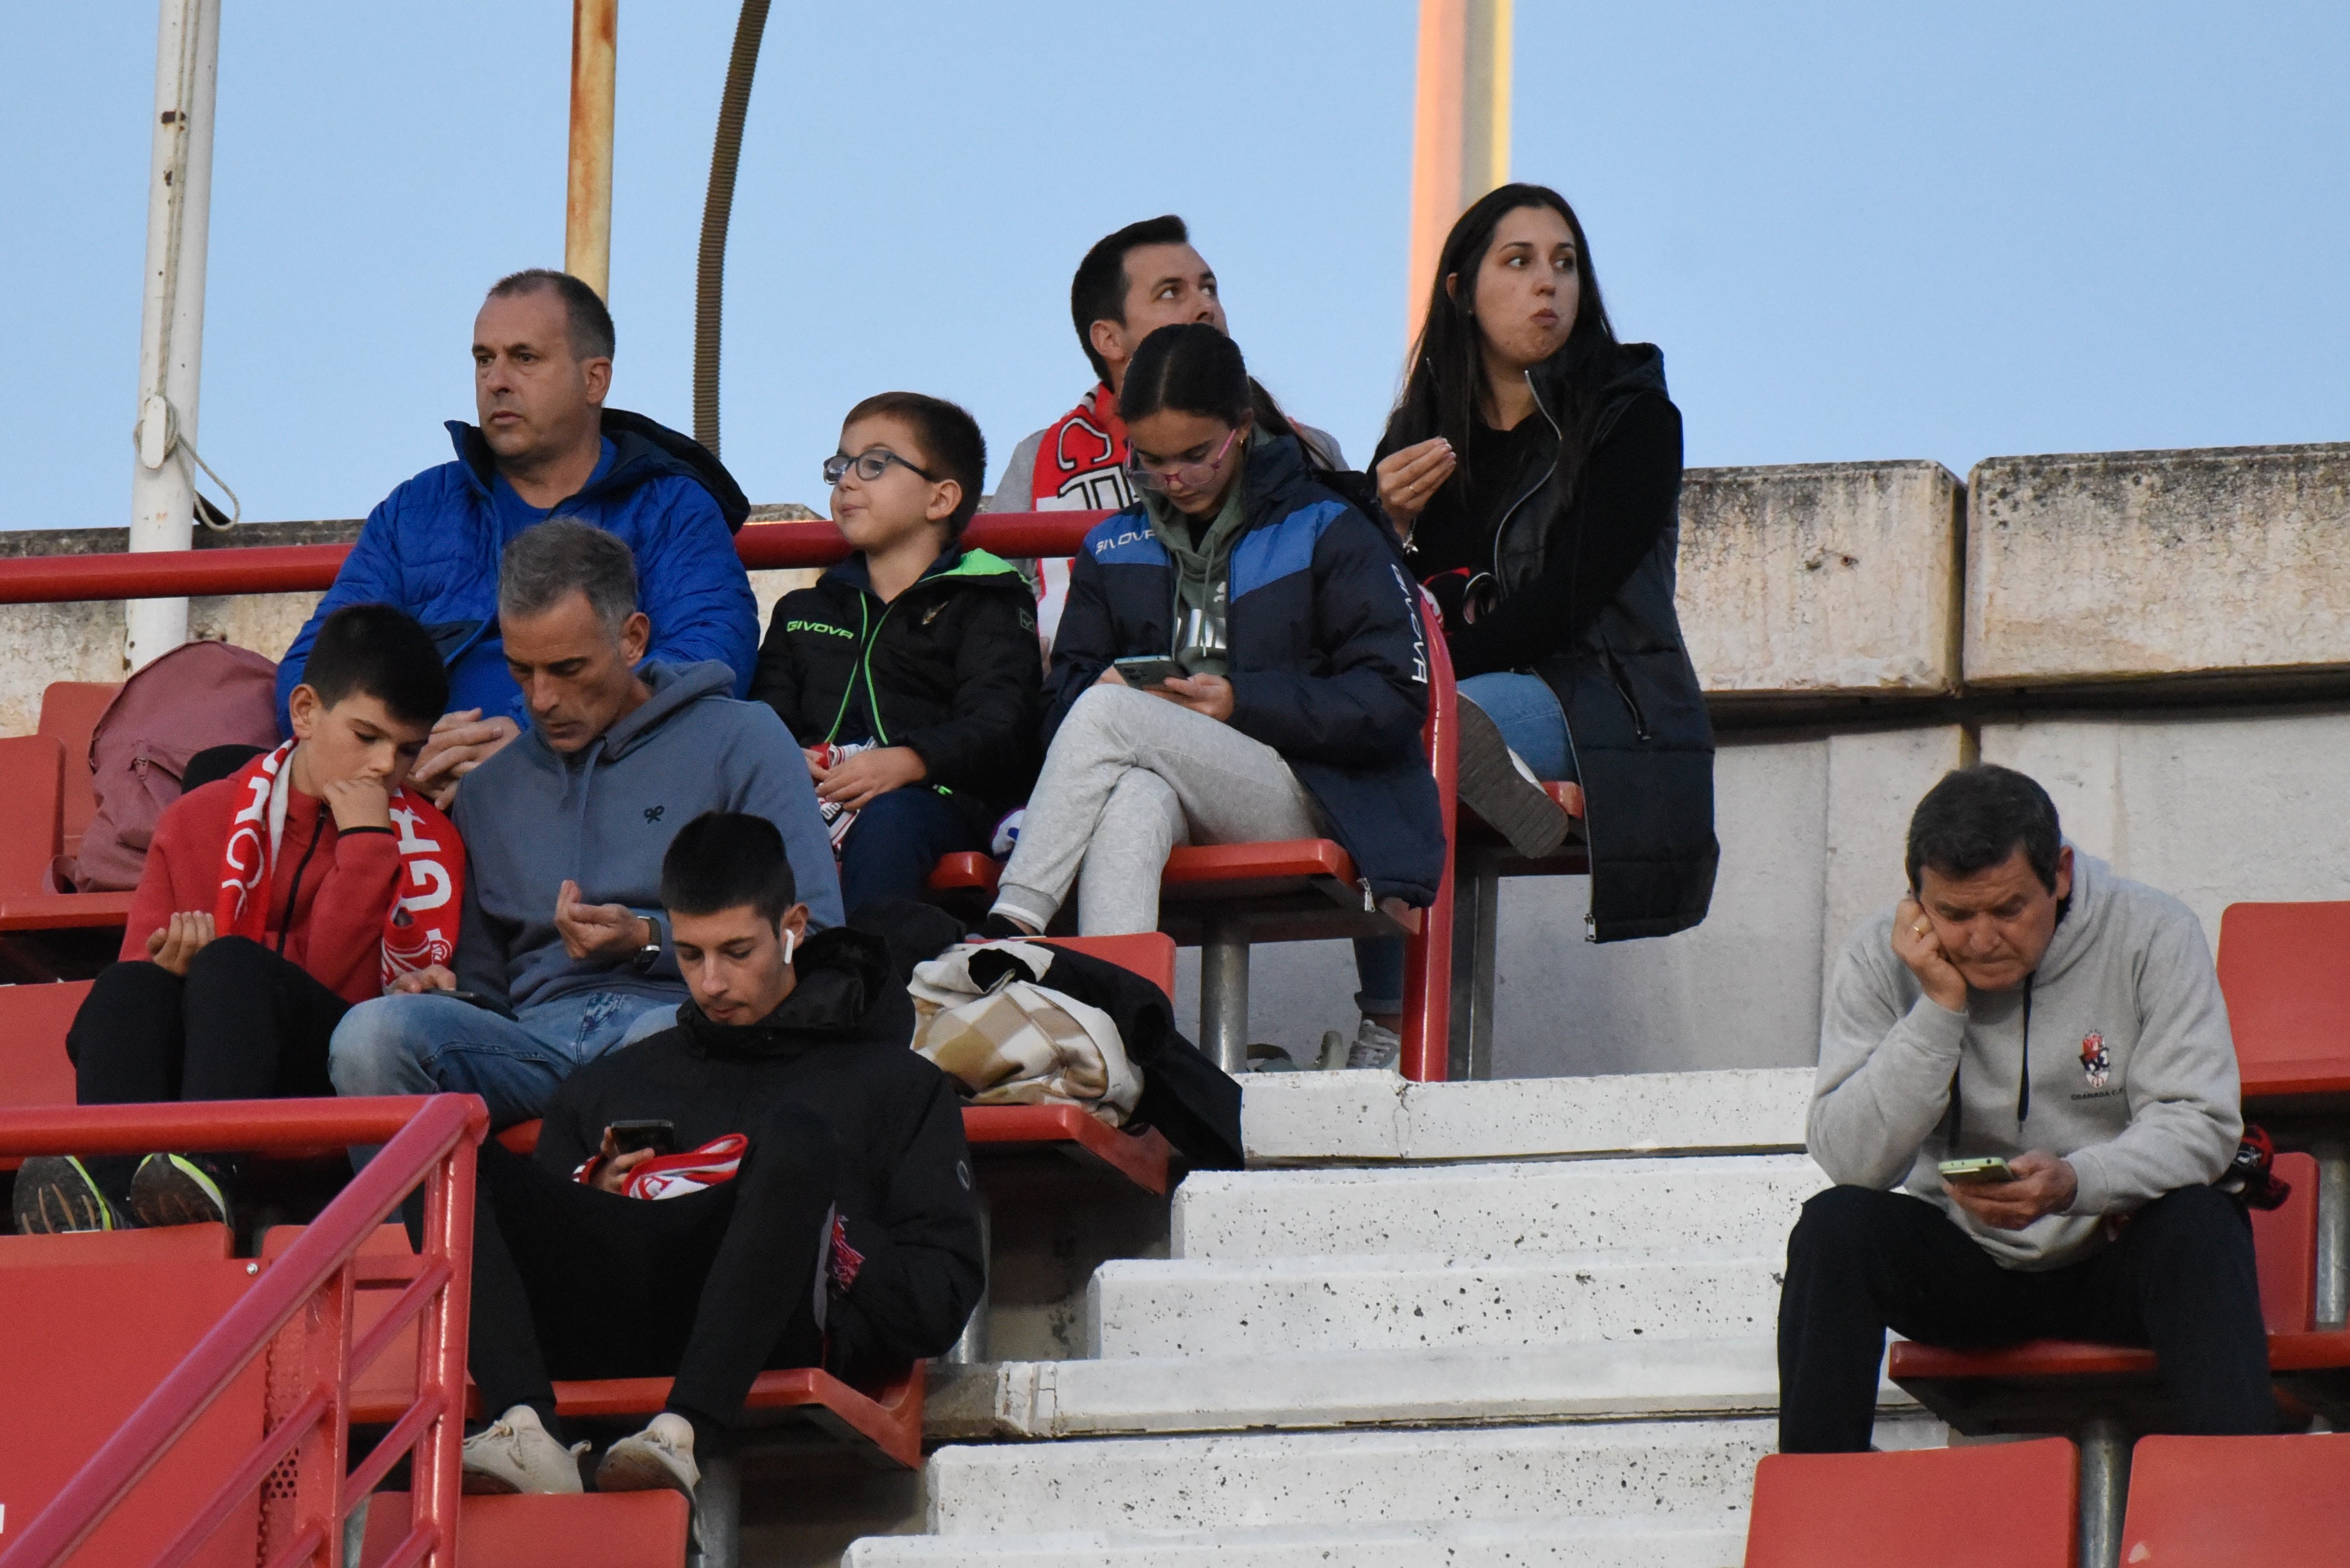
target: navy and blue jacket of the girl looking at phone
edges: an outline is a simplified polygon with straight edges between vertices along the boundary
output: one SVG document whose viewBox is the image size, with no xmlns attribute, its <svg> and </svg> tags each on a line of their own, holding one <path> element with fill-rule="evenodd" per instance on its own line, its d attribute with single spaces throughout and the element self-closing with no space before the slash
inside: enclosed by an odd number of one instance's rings
<svg viewBox="0 0 2350 1568">
<path fill-rule="evenodd" d="M 1379 898 L 1426 907 L 1445 870 L 1419 726 L 1429 644 L 1394 536 L 1325 489 L 1292 437 L 1248 451 L 1224 639 L 1231 726 L 1311 790 Z M 1046 677 L 1046 743 L 1112 658 L 1175 646 L 1175 567 L 1142 508 L 1086 534 Z"/>
</svg>

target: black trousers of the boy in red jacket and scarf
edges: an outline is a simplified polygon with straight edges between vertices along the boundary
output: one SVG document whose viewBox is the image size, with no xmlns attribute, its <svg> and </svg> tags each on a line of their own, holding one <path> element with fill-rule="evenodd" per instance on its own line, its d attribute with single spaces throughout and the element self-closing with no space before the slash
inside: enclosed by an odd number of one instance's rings
<svg viewBox="0 0 2350 1568">
<path fill-rule="evenodd" d="M 66 1032 L 75 1100 L 273 1100 L 331 1095 L 327 1041 L 350 1004 L 261 943 L 223 936 L 181 980 L 160 964 L 113 964 Z M 85 1161 L 118 1204 L 136 1154 Z"/>
</svg>

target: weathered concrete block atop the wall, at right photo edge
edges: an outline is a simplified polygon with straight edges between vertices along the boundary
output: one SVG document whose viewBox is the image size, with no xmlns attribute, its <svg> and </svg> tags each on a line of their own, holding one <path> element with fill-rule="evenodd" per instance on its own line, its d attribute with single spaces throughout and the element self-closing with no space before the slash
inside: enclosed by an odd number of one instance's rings
<svg viewBox="0 0 2350 1568">
<path fill-rule="evenodd" d="M 2350 665 L 2350 444 L 1988 458 L 1969 684 Z"/>
</svg>

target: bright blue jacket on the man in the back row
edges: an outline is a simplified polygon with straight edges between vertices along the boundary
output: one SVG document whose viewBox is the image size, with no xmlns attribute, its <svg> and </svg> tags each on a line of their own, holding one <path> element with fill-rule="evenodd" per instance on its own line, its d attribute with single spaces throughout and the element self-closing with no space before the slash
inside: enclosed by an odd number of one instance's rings
<svg viewBox="0 0 2350 1568">
<path fill-rule="evenodd" d="M 717 658 L 733 693 L 750 691 L 759 658 L 759 607 L 733 550 L 743 491 L 717 458 L 674 430 L 606 409 L 604 461 L 569 501 L 540 512 L 498 480 L 489 444 L 451 418 L 456 463 L 428 468 L 367 515 L 334 588 L 277 665 L 277 733 L 301 684 L 320 621 L 345 604 L 397 604 L 432 632 L 449 661 L 449 710 L 531 715 L 505 672 L 498 637 L 498 557 L 533 522 L 576 517 L 618 534 L 637 555 L 637 609 L 653 621 L 646 658 L 691 665 Z"/>
</svg>

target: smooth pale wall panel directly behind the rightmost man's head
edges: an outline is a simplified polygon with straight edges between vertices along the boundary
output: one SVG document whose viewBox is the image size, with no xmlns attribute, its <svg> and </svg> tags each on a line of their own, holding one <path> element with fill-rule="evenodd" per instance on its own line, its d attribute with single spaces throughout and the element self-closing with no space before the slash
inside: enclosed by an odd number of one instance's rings
<svg viewBox="0 0 2350 1568">
<path fill-rule="evenodd" d="M 2066 837 L 2186 900 L 2350 896 L 2350 715 L 2143 715 L 1986 724 L 1983 759 L 2047 788 Z"/>
</svg>

